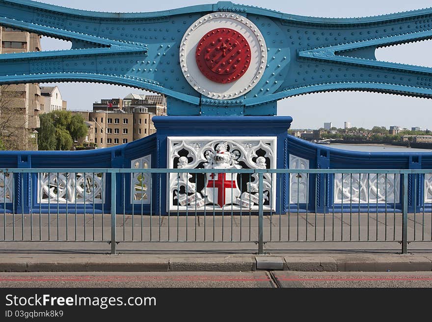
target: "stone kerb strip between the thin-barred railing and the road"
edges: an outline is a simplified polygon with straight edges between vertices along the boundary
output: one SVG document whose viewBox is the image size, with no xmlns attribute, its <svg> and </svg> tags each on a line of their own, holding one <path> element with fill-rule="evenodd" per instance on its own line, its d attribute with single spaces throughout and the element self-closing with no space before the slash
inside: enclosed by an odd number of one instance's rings
<svg viewBox="0 0 432 322">
<path fill-rule="evenodd" d="M 432 253 L 24 254 L 1 253 L 0 272 L 425 272 Z"/>
</svg>

